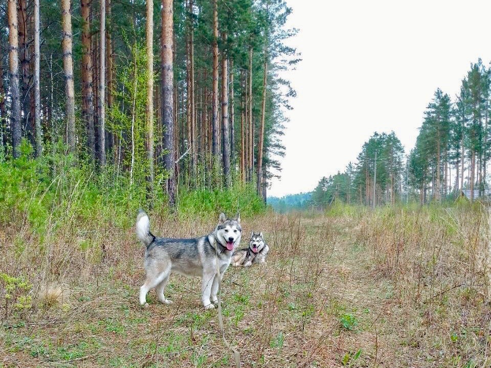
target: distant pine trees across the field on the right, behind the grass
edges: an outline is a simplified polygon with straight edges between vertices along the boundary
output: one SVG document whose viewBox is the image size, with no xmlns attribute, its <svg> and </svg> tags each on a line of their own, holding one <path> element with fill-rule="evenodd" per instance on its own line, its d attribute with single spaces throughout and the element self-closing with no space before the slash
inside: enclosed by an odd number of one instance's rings
<svg viewBox="0 0 491 368">
<path fill-rule="evenodd" d="M 491 157 L 491 67 L 479 59 L 462 79 L 454 98 L 437 88 L 423 114 L 416 144 L 405 155 L 394 132 L 375 132 L 356 163 L 319 180 L 301 208 L 325 208 L 334 201 L 380 205 L 487 197 Z M 272 199 L 276 205 L 279 198 Z M 288 205 L 298 209 L 298 203 Z"/>
</svg>

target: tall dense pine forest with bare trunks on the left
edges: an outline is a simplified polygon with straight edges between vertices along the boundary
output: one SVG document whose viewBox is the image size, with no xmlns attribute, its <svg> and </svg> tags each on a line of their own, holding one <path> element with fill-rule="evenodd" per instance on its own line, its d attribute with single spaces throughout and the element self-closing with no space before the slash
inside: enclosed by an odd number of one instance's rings
<svg viewBox="0 0 491 368">
<path fill-rule="evenodd" d="M 56 176 L 70 157 L 149 203 L 234 185 L 265 200 L 295 96 L 279 75 L 299 61 L 290 13 L 280 0 L 8 0 L 1 160 L 44 159 Z"/>
</svg>

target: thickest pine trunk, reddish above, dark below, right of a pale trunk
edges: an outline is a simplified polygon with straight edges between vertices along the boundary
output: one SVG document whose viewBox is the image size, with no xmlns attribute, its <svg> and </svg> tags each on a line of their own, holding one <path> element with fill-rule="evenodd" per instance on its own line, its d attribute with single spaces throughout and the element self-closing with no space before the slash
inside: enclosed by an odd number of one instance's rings
<svg viewBox="0 0 491 368">
<path fill-rule="evenodd" d="M 169 173 L 167 193 L 169 205 L 175 207 L 175 165 L 174 165 L 174 75 L 172 65 L 173 9 L 172 0 L 162 0 L 162 118 L 164 126 L 165 169 Z"/>
</svg>

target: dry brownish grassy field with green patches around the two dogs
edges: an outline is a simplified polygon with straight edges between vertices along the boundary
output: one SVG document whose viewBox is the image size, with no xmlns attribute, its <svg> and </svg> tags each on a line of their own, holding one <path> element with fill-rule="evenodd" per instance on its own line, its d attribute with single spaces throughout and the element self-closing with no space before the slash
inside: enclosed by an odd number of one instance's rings
<svg viewBox="0 0 491 368">
<path fill-rule="evenodd" d="M 168 237 L 215 219 L 151 216 Z M 225 337 L 243 367 L 489 367 L 489 215 L 481 208 L 364 209 L 243 218 L 267 263 L 222 284 Z M 0 228 L 0 366 L 230 367 L 217 310 L 173 276 L 138 305 L 143 246 L 131 228 L 77 221 Z"/>
</svg>

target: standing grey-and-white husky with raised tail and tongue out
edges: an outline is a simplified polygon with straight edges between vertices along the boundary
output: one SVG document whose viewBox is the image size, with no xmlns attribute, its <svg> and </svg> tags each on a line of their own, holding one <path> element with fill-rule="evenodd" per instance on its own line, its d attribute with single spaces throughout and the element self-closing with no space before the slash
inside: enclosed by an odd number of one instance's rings
<svg viewBox="0 0 491 368">
<path fill-rule="evenodd" d="M 202 297 L 205 309 L 213 309 L 218 302 L 217 292 L 221 278 L 216 272 L 216 263 L 223 277 L 229 267 L 232 253 L 240 243 L 242 227 L 240 216 L 228 219 L 224 213 L 218 218 L 213 233 L 194 239 L 157 238 L 150 233 L 148 215 L 140 210 L 137 217 L 136 233 L 146 245 L 144 266 L 145 283 L 140 288 L 140 304 L 146 304 L 148 290 L 155 288 L 162 303 L 172 301 L 164 296 L 164 288 L 171 273 L 202 278 Z"/>
</svg>

